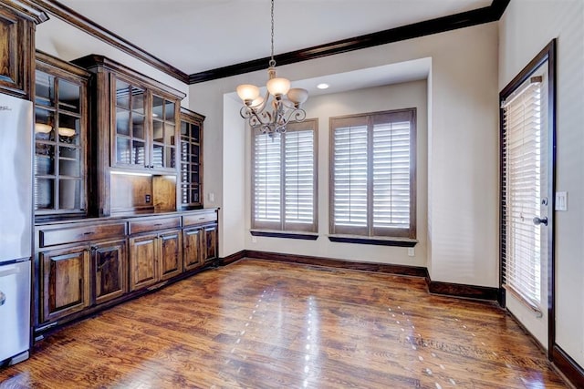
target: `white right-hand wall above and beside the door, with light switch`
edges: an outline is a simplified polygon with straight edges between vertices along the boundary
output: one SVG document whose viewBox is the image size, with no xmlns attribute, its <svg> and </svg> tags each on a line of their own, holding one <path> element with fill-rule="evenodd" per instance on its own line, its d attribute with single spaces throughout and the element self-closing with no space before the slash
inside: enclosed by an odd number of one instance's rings
<svg viewBox="0 0 584 389">
<path fill-rule="evenodd" d="M 556 221 L 556 343 L 584 366 L 584 2 L 512 1 L 499 22 L 499 88 L 558 38 L 556 190 L 568 211 Z"/>
</svg>

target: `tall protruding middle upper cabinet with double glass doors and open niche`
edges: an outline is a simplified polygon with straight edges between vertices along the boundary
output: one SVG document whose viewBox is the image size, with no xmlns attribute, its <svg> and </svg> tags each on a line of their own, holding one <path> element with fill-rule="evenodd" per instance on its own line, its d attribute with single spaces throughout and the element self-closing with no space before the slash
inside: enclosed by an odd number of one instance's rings
<svg viewBox="0 0 584 389">
<path fill-rule="evenodd" d="M 185 94 L 104 56 L 72 62 L 92 74 L 88 154 L 95 196 L 89 197 L 89 214 L 177 210 Z"/>
</svg>

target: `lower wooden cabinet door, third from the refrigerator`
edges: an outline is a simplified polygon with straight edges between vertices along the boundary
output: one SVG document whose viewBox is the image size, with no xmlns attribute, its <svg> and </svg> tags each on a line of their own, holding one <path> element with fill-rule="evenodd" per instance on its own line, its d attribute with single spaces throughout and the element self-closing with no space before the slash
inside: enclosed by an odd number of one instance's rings
<svg viewBox="0 0 584 389">
<path fill-rule="evenodd" d="M 135 291 L 158 282 L 157 235 L 130 238 L 130 289 Z"/>
</svg>

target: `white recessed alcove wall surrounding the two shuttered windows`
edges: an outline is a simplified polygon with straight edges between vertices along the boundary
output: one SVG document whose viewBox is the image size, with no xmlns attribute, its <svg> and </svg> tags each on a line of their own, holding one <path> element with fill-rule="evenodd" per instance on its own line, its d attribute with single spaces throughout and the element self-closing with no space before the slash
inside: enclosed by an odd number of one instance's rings
<svg viewBox="0 0 584 389">
<path fill-rule="evenodd" d="M 307 118 L 318 118 L 318 240 L 255 237 L 245 234 L 245 249 L 335 258 L 347 261 L 385 262 L 426 266 L 426 209 L 427 209 L 427 104 L 425 80 L 385 87 L 371 87 L 344 93 L 310 97 L 304 106 Z M 408 257 L 407 248 L 328 241 L 328 118 L 399 108 L 417 108 L 417 239 L 415 256 Z M 239 128 L 243 130 L 243 120 Z M 247 131 L 245 182 L 245 230 L 251 226 L 251 131 Z"/>
</svg>

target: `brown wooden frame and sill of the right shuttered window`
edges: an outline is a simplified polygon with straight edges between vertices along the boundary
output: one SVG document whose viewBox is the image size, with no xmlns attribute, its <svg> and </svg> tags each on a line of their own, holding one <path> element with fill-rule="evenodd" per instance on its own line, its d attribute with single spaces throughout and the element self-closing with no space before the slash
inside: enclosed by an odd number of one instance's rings
<svg viewBox="0 0 584 389">
<path fill-rule="evenodd" d="M 380 116 L 397 116 L 399 118 L 408 119 L 410 121 L 410 228 L 407 230 L 401 230 L 397 234 L 392 235 L 380 235 L 375 234 L 376 230 L 373 227 L 373 180 L 372 180 L 372 125 L 373 118 Z M 328 232 L 330 241 L 353 241 L 366 244 L 383 244 L 383 245 L 401 245 L 405 244 L 405 247 L 416 241 L 416 224 L 417 224 L 417 108 L 402 108 L 402 109 L 391 109 L 385 111 L 368 112 L 356 115 L 346 115 L 340 117 L 331 117 L 328 119 L 328 131 L 329 131 L 329 141 L 328 141 Z M 348 123 L 363 123 L 364 120 L 367 122 L 368 126 L 368 204 L 367 204 L 367 227 L 364 228 L 341 228 L 335 225 L 335 198 L 334 198 L 334 131 L 335 121 L 345 121 Z M 363 234 L 362 231 L 367 230 L 367 234 Z M 350 238 L 347 238 L 350 236 Z M 380 242 L 389 242 L 378 243 Z M 406 242 L 406 243 L 403 243 Z M 413 243 L 415 244 L 415 243 Z"/>
</svg>

